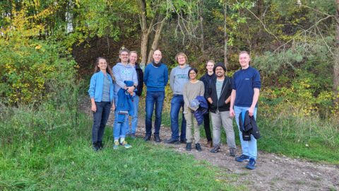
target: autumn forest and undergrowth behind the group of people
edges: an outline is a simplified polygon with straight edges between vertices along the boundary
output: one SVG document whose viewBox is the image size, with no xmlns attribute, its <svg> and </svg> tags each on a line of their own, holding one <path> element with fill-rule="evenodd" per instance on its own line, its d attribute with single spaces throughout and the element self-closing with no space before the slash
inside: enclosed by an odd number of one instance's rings
<svg viewBox="0 0 339 191">
<path fill-rule="evenodd" d="M 339 0 L 5 0 L 0 45 L 4 158 L 39 154 L 62 134 L 89 142 L 78 106 L 95 59 L 113 66 L 126 47 L 142 66 L 159 48 L 169 69 L 185 52 L 200 76 L 208 59 L 232 76 L 239 51 L 250 52 L 262 81 L 259 149 L 338 164 Z M 167 86 L 165 112 L 171 96 Z"/>
</svg>

